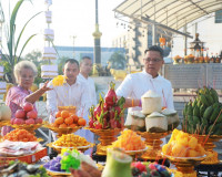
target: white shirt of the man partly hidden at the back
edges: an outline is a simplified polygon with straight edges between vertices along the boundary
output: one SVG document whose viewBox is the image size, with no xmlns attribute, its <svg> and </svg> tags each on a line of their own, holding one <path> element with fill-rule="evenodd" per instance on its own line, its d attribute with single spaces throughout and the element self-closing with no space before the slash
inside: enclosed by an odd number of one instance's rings
<svg viewBox="0 0 222 177">
<path fill-rule="evenodd" d="M 84 82 L 89 87 L 89 94 L 90 94 L 90 106 L 97 105 L 97 93 L 95 93 L 95 86 L 94 81 L 91 77 L 85 79 L 81 73 L 78 75 L 79 80 L 81 82 Z"/>
</svg>

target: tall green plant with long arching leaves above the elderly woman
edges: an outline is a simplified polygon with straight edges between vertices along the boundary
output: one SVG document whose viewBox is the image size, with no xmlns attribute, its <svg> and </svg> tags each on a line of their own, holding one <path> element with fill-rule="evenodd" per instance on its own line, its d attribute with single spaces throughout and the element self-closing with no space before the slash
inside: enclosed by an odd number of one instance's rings
<svg viewBox="0 0 222 177">
<path fill-rule="evenodd" d="M 36 37 L 37 34 L 32 34 L 30 35 L 26 42 L 23 43 L 23 45 L 21 45 L 21 50 L 19 51 L 18 50 L 18 46 L 20 46 L 20 40 L 23 35 L 23 32 L 26 30 L 26 27 L 29 24 L 29 22 L 34 18 L 37 17 L 38 14 L 40 14 L 41 12 L 38 12 L 37 14 L 34 14 L 33 17 L 31 17 L 23 25 L 23 28 L 21 29 L 21 31 L 19 32 L 19 35 L 16 38 L 16 20 L 17 20 L 17 14 L 19 12 L 19 9 L 20 7 L 22 6 L 24 0 L 18 0 L 17 4 L 14 6 L 11 14 L 10 14 L 10 20 L 9 22 L 4 22 L 4 25 L 6 25 L 6 34 L 7 34 L 7 48 L 4 49 L 3 45 L 2 45 L 2 49 L 3 49 L 3 54 L 2 54 L 2 58 L 4 61 L 8 61 L 9 63 L 9 72 L 7 73 L 9 75 L 9 79 L 11 83 L 16 83 L 16 80 L 14 80 L 14 75 L 13 75 L 13 67 L 14 65 L 20 61 L 22 60 L 21 59 L 21 55 L 22 55 L 22 52 L 23 50 L 26 49 L 27 44 L 30 42 L 30 40 Z M 31 0 L 30 0 L 31 1 Z M 1 1 L 0 1 L 0 7 L 1 6 Z M 1 11 L 1 15 L 4 15 L 3 11 Z M 4 19 L 4 18 L 3 18 Z"/>
</svg>

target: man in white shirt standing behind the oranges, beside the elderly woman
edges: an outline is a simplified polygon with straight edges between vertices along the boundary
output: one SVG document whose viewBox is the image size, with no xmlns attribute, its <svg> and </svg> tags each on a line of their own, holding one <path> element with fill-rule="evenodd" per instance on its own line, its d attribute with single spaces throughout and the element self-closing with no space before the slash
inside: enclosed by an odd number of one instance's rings
<svg viewBox="0 0 222 177">
<path fill-rule="evenodd" d="M 85 83 L 79 81 L 78 74 L 80 72 L 79 62 L 74 59 L 67 60 L 63 69 L 64 76 L 67 77 L 67 83 L 61 86 L 53 86 L 53 88 L 47 92 L 47 108 L 50 113 L 50 123 L 56 119 L 56 114 L 58 112 L 58 106 L 75 106 L 77 115 L 83 117 L 89 122 L 88 111 L 90 106 L 89 102 L 89 88 Z M 88 136 L 85 129 L 79 129 L 75 134 L 87 138 L 88 142 L 93 143 L 91 134 Z M 53 139 L 56 140 L 56 134 L 52 133 Z"/>
</svg>

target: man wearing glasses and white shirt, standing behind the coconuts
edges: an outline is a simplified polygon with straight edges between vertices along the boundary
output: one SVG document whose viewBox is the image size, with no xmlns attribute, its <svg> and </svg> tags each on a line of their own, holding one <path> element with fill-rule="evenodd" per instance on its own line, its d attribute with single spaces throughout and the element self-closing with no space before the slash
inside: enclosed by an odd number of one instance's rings
<svg viewBox="0 0 222 177">
<path fill-rule="evenodd" d="M 128 111 L 141 111 L 141 96 L 152 90 L 162 97 L 162 107 L 174 110 L 173 93 L 170 81 L 159 74 L 164 64 L 163 50 L 152 45 L 144 51 L 144 70 L 140 73 L 129 74 L 117 90 L 118 96 L 125 97 Z M 128 125 L 128 118 L 125 122 Z"/>
</svg>

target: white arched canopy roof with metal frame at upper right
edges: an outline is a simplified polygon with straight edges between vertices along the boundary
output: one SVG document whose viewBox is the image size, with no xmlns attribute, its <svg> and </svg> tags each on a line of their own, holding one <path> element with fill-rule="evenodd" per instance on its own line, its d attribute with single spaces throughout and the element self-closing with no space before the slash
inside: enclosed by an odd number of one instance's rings
<svg viewBox="0 0 222 177">
<path fill-rule="evenodd" d="M 128 17 L 152 23 L 174 33 L 192 38 L 179 30 L 188 23 L 222 9 L 222 0 L 125 0 L 113 11 L 115 18 Z"/>
</svg>

